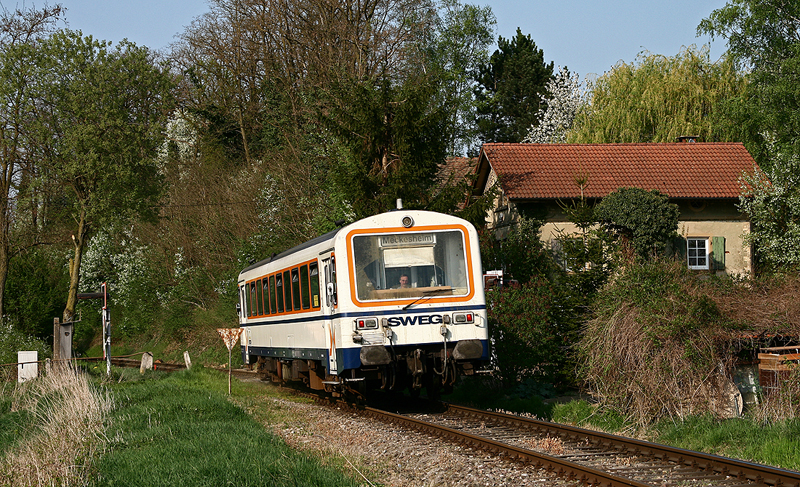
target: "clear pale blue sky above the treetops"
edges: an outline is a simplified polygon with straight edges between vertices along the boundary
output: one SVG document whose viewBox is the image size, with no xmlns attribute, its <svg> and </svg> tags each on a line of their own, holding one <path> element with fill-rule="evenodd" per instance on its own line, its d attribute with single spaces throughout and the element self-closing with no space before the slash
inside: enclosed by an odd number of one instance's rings
<svg viewBox="0 0 800 487">
<path fill-rule="evenodd" d="M 67 8 L 71 29 L 98 39 L 123 38 L 159 50 L 192 19 L 209 10 L 206 0 L 50 0 Z M 545 62 L 567 66 L 582 78 L 602 75 L 618 62 L 631 63 L 642 51 L 674 56 L 683 46 L 709 44 L 696 37 L 697 25 L 726 0 L 488 0 L 497 19 L 497 35 L 530 34 Z M 44 2 L 0 0 L 6 8 Z M 492 51 L 496 46 L 492 47 Z M 711 59 L 725 51 L 724 39 L 711 43 Z"/>
</svg>

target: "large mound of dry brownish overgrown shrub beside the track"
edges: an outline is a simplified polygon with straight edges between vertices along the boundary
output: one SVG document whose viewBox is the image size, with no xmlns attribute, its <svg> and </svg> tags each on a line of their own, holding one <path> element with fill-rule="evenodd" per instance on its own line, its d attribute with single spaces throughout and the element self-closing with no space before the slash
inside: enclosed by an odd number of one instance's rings
<svg viewBox="0 0 800 487">
<path fill-rule="evenodd" d="M 639 424 L 725 407 L 731 322 L 682 262 L 626 268 L 593 311 L 579 375 L 597 401 Z"/>
</svg>

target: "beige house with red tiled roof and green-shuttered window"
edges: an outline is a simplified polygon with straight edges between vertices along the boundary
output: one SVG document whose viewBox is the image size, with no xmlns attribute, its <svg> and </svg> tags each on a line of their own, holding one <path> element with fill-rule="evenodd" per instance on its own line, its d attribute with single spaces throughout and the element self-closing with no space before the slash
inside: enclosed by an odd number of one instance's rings
<svg viewBox="0 0 800 487">
<path fill-rule="evenodd" d="M 503 239 L 519 215 L 546 221 L 541 239 L 557 249 L 556 237 L 577 232 L 562 207 L 581 197 L 596 203 L 623 187 L 656 189 L 680 210 L 678 233 L 686 263 L 719 274 L 752 272 L 752 249 L 744 241 L 748 218 L 737 209 L 740 178 L 757 170 L 740 143 L 484 144 L 473 194 L 499 184 L 487 226 Z M 683 243 L 681 243 L 683 245 Z M 682 250 L 682 249 L 680 249 Z M 683 253 L 683 252 L 681 252 Z"/>
</svg>

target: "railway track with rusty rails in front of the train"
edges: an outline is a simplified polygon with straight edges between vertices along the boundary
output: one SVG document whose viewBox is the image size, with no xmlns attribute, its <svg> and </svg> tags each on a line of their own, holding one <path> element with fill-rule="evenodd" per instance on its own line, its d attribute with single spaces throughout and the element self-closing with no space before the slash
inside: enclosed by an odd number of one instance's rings
<svg viewBox="0 0 800 487">
<path fill-rule="evenodd" d="M 446 405 L 442 413 L 364 414 L 596 486 L 800 487 L 800 472 L 645 441 Z"/>
</svg>

